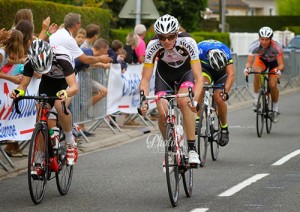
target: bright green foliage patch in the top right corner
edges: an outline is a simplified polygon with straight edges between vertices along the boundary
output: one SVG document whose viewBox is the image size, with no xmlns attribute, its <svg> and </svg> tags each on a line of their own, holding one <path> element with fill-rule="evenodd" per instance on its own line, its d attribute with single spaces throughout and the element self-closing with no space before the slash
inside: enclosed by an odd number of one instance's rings
<svg viewBox="0 0 300 212">
<path fill-rule="evenodd" d="M 279 15 L 300 15 L 299 0 L 276 0 Z"/>
</svg>

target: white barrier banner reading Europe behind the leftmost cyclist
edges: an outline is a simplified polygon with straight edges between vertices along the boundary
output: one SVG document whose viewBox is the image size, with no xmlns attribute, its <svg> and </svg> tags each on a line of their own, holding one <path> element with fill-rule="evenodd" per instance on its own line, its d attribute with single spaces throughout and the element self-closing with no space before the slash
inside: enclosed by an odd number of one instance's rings
<svg viewBox="0 0 300 212">
<path fill-rule="evenodd" d="M 32 78 L 25 95 L 36 95 L 40 79 Z M 34 129 L 36 120 L 36 101 L 21 100 L 17 114 L 13 108 L 13 100 L 9 94 L 17 85 L 0 79 L 0 141 L 2 140 L 28 140 Z"/>
</svg>

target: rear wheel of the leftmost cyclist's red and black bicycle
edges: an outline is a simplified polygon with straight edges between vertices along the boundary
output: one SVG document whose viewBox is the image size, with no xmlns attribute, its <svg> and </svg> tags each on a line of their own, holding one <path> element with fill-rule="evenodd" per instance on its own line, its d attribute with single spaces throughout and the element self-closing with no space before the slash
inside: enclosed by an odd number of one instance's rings
<svg viewBox="0 0 300 212">
<path fill-rule="evenodd" d="M 61 132 L 61 131 L 60 131 Z M 62 136 L 60 136 L 61 138 Z M 67 147 L 65 141 L 60 141 L 58 149 L 59 171 L 55 173 L 56 185 L 59 193 L 63 196 L 69 191 L 73 176 L 73 166 L 69 166 L 66 161 Z"/>
</svg>

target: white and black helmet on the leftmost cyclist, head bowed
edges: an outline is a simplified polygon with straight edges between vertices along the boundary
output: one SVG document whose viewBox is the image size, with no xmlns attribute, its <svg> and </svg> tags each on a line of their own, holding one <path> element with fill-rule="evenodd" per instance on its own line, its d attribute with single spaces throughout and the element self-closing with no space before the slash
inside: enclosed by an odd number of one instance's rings
<svg viewBox="0 0 300 212">
<path fill-rule="evenodd" d="M 51 70 L 53 61 L 50 44 L 40 39 L 34 40 L 29 47 L 28 58 L 36 72 L 40 74 L 48 73 Z"/>
</svg>

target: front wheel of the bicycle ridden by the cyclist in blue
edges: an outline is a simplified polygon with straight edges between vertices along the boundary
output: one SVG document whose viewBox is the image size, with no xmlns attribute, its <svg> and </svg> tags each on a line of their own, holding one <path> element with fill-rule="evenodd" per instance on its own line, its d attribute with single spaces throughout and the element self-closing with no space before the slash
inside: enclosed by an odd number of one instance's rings
<svg viewBox="0 0 300 212">
<path fill-rule="evenodd" d="M 202 108 L 199 126 L 198 126 L 198 154 L 200 159 L 200 166 L 203 167 L 206 162 L 207 145 L 208 145 L 208 121 L 207 121 L 207 107 Z"/>
</svg>

